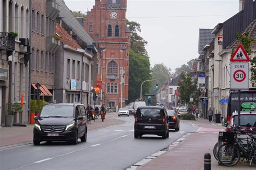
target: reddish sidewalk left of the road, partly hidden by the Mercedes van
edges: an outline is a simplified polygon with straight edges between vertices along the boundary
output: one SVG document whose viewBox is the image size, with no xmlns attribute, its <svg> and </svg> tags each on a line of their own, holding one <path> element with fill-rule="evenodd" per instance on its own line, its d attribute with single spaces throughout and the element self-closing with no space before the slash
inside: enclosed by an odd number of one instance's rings
<svg viewBox="0 0 256 170">
<path fill-rule="evenodd" d="M 95 122 L 92 121 L 91 124 L 87 124 L 87 128 L 90 131 L 124 123 L 124 121 L 113 118 L 115 116 L 117 116 L 116 112 L 107 112 L 104 122 L 99 117 Z M 0 128 L 0 148 L 10 145 L 15 146 L 21 143 L 27 144 L 31 143 L 32 140 L 33 125 L 27 125 L 27 127 L 12 126 Z"/>
</svg>

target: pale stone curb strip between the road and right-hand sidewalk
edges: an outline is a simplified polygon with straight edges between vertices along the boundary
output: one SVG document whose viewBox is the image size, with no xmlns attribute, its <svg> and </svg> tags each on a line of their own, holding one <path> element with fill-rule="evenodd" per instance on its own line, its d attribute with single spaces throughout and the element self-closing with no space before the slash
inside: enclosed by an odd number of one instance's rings
<svg viewBox="0 0 256 170">
<path fill-rule="evenodd" d="M 148 157 L 146 157 L 146 158 L 136 162 L 135 164 L 131 165 L 130 167 L 127 167 L 126 170 L 134 170 L 134 169 L 138 169 L 138 168 L 142 167 L 143 165 L 147 164 L 148 162 L 152 161 L 153 159 L 156 159 L 160 155 L 166 153 L 167 151 L 172 150 L 172 148 L 174 148 L 174 147 L 180 145 L 181 143 L 183 143 L 183 141 L 185 141 L 185 139 L 187 137 L 189 137 L 192 133 L 193 132 L 185 133 L 179 139 L 174 141 L 171 145 L 168 145 L 165 148 L 163 148 L 162 150 L 160 150 L 160 151 L 158 151 L 156 153 L 153 153 L 153 154 L 149 155 Z"/>
</svg>

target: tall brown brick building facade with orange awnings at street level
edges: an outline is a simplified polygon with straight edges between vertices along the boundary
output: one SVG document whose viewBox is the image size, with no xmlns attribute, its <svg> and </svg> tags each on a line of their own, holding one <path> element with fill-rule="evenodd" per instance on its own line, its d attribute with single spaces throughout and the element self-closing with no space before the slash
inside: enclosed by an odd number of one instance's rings
<svg viewBox="0 0 256 170">
<path fill-rule="evenodd" d="M 40 83 L 41 98 L 54 101 L 55 52 L 60 41 L 55 37 L 56 0 L 32 2 L 31 98 L 36 99 L 36 83 Z M 45 93 L 46 92 L 46 93 Z"/>
</svg>

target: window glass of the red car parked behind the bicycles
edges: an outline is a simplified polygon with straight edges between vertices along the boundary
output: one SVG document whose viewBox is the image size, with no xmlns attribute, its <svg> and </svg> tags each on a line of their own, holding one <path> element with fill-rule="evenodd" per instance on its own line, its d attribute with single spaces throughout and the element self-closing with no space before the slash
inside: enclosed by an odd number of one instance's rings
<svg viewBox="0 0 256 170">
<path fill-rule="evenodd" d="M 238 116 L 234 116 L 233 118 L 234 124 L 238 125 Z M 256 127 L 256 115 L 240 115 L 240 125 Z"/>
</svg>

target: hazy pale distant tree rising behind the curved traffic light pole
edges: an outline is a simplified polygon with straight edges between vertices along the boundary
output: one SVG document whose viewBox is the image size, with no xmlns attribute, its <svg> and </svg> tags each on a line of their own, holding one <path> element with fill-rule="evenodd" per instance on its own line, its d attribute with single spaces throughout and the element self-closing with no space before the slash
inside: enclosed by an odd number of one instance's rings
<svg viewBox="0 0 256 170">
<path fill-rule="evenodd" d="M 151 68 L 152 79 L 157 79 L 159 83 L 159 88 L 165 84 L 168 79 L 172 76 L 171 69 L 167 68 L 164 63 L 155 64 Z M 156 82 L 151 82 L 150 94 L 156 94 Z"/>
</svg>

